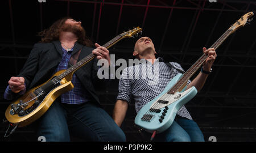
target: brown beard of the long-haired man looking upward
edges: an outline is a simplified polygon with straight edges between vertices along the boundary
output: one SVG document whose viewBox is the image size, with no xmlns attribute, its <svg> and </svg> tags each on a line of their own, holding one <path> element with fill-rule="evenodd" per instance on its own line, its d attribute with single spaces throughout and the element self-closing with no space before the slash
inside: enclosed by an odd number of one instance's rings
<svg viewBox="0 0 256 153">
<path fill-rule="evenodd" d="M 61 31 L 74 33 L 78 40 L 83 40 L 85 38 L 85 29 L 79 25 L 64 24 Z"/>
</svg>

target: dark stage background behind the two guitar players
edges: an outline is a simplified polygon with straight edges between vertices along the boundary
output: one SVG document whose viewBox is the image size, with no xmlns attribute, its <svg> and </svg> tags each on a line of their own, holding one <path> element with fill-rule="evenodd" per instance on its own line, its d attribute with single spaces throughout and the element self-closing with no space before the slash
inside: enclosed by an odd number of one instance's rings
<svg viewBox="0 0 256 153">
<path fill-rule="evenodd" d="M 210 0 L 211 1 L 211 0 Z M 105 44 L 129 28 L 142 27 L 158 55 L 178 62 L 185 70 L 249 11 L 256 11 L 256 1 L 249 0 L 92 0 L 92 1 L 15 1 L 0 2 L 0 118 L 10 101 L 3 93 L 11 76 L 19 73 L 32 46 L 39 41 L 38 32 L 63 16 L 80 20 L 87 35 Z M 204 133 L 217 141 L 256 141 L 256 21 L 234 32 L 216 50 L 217 59 L 203 90 L 185 106 Z M 132 58 L 133 39 L 123 39 L 110 48 L 115 59 Z M 99 91 L 101 103 L 112 115 L 118 93 L 118 79 L 107 90 Z M 134 104 L 129 106 L 122 129 L 127 141 L 141 141 L 133 126 Z M 3 138 L 7 126 L 0 124 L 1 141 L 36 141 L 31 127 L 17 129 Z M 75 139 L 76 140 L 76 139 Z"/>
</svg>

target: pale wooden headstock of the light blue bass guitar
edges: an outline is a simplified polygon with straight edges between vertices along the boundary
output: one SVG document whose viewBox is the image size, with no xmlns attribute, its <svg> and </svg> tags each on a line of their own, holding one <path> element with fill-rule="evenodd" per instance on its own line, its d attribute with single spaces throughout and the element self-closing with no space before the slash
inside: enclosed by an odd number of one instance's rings
<svg viewBox="0 0 256 153">
<path fill-rule="evenodd" d="M 251 16 L 253 16 L 253 12 L 248 12 L 245 15 L 243 15 L 239 20 L 236 21 L 236 23 L 234 23 L 233 25 L 231 25 L 231 27 L 229 29 L 232 30 L 232 33 L 235 32 L 238 28 L 243 27 L 245 24 L 250 24 L 249 22 L 251 22 L 251 20 L 253 20 L 253 18 L 251 18 Z M 251 18 L 251 19 L 250 19 Z"/>
</svg>

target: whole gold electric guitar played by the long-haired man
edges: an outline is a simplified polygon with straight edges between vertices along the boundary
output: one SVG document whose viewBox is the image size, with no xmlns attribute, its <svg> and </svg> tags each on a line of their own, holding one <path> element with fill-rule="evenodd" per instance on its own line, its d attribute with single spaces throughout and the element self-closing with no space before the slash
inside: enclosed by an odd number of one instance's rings
<svg viewBox="0 0 256 153">
<path fill-rule="evenodd" d="M 118 41 L 138 36 L 141 32 L 142 28 L 133 28 L 114 37 L 103 46 L 108 49 Z M 73 73 L 95 57 L 91 53 L 67 70 L 58 71 L 47 82 L 27 91 L 26 94 L 9 105 L 5 112 L 6 119 L 18 127 L 29 125 L 37 120 L 48 110 L 57 97 L 72 90 L 74 87 L 71 82 Z"/>
</svg>

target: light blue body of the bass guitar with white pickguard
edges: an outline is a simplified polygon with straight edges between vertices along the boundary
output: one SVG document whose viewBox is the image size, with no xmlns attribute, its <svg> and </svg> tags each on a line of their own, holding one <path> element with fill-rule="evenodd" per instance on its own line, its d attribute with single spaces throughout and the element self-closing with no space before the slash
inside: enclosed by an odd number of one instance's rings
<svg viewBox="0 0 256 153">
<path fill-rule="evenodd" d="M 183 88 L 181 92 L 176 92 L 175 94 L 167 93 L 181 77 L 182 74 L 176 75 L 160 95 L 144 105 L 135 117 L 136 125 L 150 133 L 154 131 L 162 133 L 171 126 L 180 107 L 197 94 L 195 87 L 191 87 L 186 91 Z"/>
</svg>

